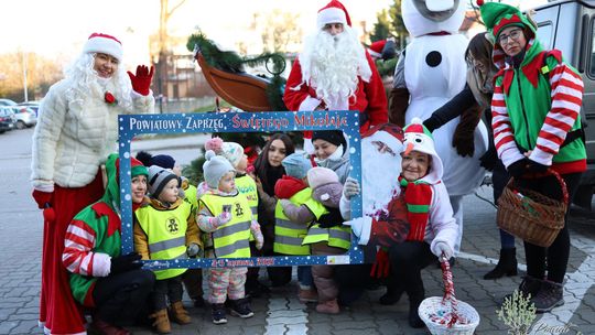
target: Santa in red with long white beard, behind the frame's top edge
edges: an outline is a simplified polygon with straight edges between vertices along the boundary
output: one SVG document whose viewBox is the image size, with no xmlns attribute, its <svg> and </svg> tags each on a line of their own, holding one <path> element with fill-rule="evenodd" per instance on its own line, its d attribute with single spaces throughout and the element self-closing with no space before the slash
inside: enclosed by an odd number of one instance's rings
<svg viewBox="0 0 595 335">
<path fill-rule="evenodd" d="M 359 110 L 361 133 L 387 122 L 382 79 L 351 29 L 343 3 L 332 0 L 322 8 L 316 29 L 293 63 L 283 96 L 285 106 L 304 111 Z M 304 138 L 310 139 L 311 133 Z"/>
</svg>

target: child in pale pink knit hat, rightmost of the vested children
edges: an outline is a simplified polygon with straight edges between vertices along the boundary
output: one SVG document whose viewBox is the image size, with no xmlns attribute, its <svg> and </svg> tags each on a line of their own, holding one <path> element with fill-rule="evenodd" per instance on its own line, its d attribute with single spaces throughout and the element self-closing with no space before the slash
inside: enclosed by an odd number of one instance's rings
<svg viewBox="0 0 595 335">
<path fill-rule="evenodd" d="M 312 168 L 307 171 L 307 183 L 312 187 L 312 199 L 326 207 L 314 225 L 307 229 L 302 245 L 310 245 L 312 255 L 343 255 L 350 246 L 350 229 L 342 226 L 343 218 L 338 210 L 343 185 L 338 175 L 331 169 Z M 306 205 L 295 206 L 290 201 L 282 199 L 281 206 L 285 215 L 291 218 L 307 217 L 315 219 Z M 332 266 L 312 266 L 314 283 L 318 290 L 318 304 L 316 312 L 338 314 L 338 288 L 333 279 Z"/>
</svg>

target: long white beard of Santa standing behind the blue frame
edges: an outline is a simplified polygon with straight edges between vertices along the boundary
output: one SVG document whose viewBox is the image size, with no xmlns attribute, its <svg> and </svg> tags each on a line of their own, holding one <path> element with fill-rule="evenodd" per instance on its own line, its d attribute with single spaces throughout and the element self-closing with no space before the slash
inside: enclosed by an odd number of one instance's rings
<svg viewBox="0 0 595 335">
<path fill-rule="evenodd" d="M 358 76 L 366 82 L 371 71 L 364 47 L 350 28 L 335 36 L 325 31 L 311 36 L 300 54 L 303 79 L 316 89 L 328 109 L 348 109 Z"/>
</svg>

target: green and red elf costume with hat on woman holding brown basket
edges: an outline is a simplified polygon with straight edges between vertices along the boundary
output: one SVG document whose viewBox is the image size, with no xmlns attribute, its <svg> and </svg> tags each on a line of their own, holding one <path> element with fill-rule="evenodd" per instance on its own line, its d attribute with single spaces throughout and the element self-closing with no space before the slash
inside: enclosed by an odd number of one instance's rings
<svg viewBox="0 0 595 335">
<path fill-rule="evenodd" d="M 480 7 L 494 39 L 508 26 L 524 28 L 524 57 L 516 68 L 499 43 L 493 60 L 500 71 L 491 100 L 494 140 L 505 166 L 523 159 L 519 149 L 532 150 L 529 159 L 561 174 L 586 170 L 583 141 L 562 148 L 567 132 L 581 128 L 583 82 L 558 50 L 545 52 L 536 40 L 536 26 L 518 8 L 497 2 Z M 544 57 L 547 57 L 544 60 Z M 521 94 L 522 93 L 522 94 Z"/>
</svg>

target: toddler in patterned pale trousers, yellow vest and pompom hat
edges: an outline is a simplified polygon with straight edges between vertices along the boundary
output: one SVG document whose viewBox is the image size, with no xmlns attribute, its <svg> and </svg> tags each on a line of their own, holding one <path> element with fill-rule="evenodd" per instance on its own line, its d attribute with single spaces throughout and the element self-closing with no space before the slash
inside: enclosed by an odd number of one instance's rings
<svg viewBox="0 0 595 335">
<path fill-rule="evenodd" d="M 203 165 L 208 192 L 198 201 L 198 227 L 208 233 L 205 251 L 212 258 L 250 257 L 249 239 L 253 235 L 258 249 L 262 248 L 260 226 L 253 219 L 248 199 L 236 188 L 235 170 L 223 156 L 209 150 Z M 208 287 L 213 306 L 213 323 L 227 323 L 224 303 L 231 300 L 231 314 L 240 317 L 255 315 L 245 298 L 247 268 L 212 268 Z"/>
</svg>

